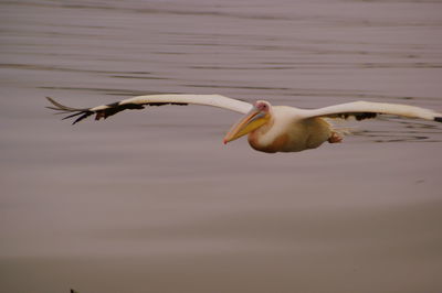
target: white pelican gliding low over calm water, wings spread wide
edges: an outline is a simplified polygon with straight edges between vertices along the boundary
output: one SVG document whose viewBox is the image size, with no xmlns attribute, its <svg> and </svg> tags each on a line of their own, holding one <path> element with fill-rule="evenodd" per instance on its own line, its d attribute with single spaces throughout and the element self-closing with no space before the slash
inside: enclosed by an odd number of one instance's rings
<svg viewBox="0 0 442 293">
<path fill-rule="evenodd" d="M 46 107 L 67 118 L 76 118 L 73 124 L 95 113 L 95 120 L 106 119 L 126 109 L 144 109 L 146 106 L 203 105 L 232 110 L 244 116 L 225 134 L 224 144 L 248 134 L 249 144 L 256 151 L 299 152 L 316 149 L 324 142 L 338 143 L 344 133 L 333 127 L 327 118 L 356 120 L 375 118 L 378 115 L 394 115 L 442 122 L 442 113 L 430 109 L 400 104 L 354 101 L 319 109 L 299 109 L 288 106 L 272 106 L 257 100 L 254 105 L 221 95 L 148 95 L 124 99 L 93 108 L 72 108 L 48 97 L 52 107 Z"/>
</svg>

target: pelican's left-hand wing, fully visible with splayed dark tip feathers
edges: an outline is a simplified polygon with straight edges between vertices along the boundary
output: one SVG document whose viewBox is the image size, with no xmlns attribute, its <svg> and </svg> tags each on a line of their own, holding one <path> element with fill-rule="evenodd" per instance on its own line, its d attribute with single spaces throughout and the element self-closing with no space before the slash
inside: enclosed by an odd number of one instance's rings
<svg viewBox="0 0 442 293">
<path fill-rule="evenodd" d="M 224 108 L 228 110 L 246 113 L 253 107 L 246 101 L 241 101 L 232 98 L 228 98 L 221 95 L 148 95 L 138 96 L 129 99 L 124 99 L 109 105 L 102 105 L 93 108 L 71 108 L 46 97 L 53 107 L 46 107 L 53 110 L 57 110 L 62 113 L 70 113 L 63 119 L 77 117 L 73 124 L 82 121 L 83 119 L 95 113 L 95 120 L 102 118 L 106 119 L 119 111 L 126 109 L 144 109 L 145 106 L 162 106 L 162 105 L 179 105 L 187 106 L 190 104 L 212 106 L 218 108 Z"/>
</svg>

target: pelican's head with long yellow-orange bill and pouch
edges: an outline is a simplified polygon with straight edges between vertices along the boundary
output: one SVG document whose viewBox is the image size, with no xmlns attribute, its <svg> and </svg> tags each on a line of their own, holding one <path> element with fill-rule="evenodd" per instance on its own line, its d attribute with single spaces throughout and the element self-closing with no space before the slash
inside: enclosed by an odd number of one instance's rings
<svg viewBox="0 0 442 293">
<path fill-rule="evenodd" d="M 270 121 L 271 116 L 272 105 L 265 100 L 256 101 L 250 112 L 238 121 L 225 134 L 224 144 L 264 126 Z"/>
</svg>

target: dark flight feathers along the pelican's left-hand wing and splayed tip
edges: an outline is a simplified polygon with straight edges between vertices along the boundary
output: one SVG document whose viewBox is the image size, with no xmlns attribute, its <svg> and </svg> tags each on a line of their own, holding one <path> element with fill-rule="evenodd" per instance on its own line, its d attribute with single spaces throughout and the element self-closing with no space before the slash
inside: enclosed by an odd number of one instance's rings
<svg viewBox="0 0 442 293">
<path fill-rule="evenodd" d="M 95 120 L 99 120 L 99 119 L 106 119 L 109 116 L 116 115 L 117 112 L 124 111 L 126 109 L 130 109 L 130 110 L 140 110 L 144 109 L 145 106 L 164 106 L 164 105 L 178 105 L 178 106 L 187 106 L 187 102 L 145 102 L 145 104 L 124 104 L 120 105 L 119 101 L 117 102 L 113 102 L 113 104 L 108 104 L 106 105 L 108 108 L 103 109 L 103 110 L 96 110 L 96 111 L 92 111 L 88 108 L 72 108 L 72 107 L 67 107 L 64 106 L 57 101 L 55 101 L 54 99 L 46 97 L 46 99 L 54 106 L 54 107 L 46 107 L 49 109 L 52 110 L 56 110 L 61 113 L 71 113 L 66 117 L 63 118 L 64 119 L 69 119 L 69 118 L 73 118 L 76 116 L 80 116 L 78 118 L 76 118 L 74 120 L 74 122 L 72 122 L 72 124 L 75 124 L 80 121 L 82 121 L 83 119 L 90 117 L 91 115 L 95 113 Z"/>
</svg>

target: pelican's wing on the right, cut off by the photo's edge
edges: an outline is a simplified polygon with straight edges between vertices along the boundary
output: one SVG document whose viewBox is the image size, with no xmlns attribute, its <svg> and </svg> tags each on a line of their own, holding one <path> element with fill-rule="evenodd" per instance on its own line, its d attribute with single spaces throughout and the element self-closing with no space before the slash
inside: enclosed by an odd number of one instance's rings
<svg viewBox="0 0 442 293">
<path fill-rule="evenodd" d="M 400 104 L 354 101 L 314 110 L 303 110 L 305 119 L 314 117 L 343 118 L 355 117 L 357 120 L 375 118 L 378 115 L 394 115 L 408 118 L 421 118 L 442 122 L 442 113 L 430 109 Z"/>
</svg>

